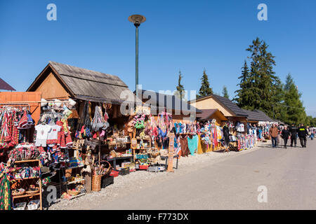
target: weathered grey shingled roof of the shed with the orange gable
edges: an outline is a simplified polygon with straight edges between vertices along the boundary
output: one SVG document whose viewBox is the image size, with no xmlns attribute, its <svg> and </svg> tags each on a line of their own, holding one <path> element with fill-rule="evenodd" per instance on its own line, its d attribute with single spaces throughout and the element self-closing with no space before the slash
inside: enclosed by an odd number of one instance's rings
<svg viewBox="0 0 316 224">
<path fill-rule="evenodd" d="M 43 80 L 41 76 L 44 76 L 44 71 L 49 68 L 53 70 L 58 80 L 76 99 L 112 104 L 121 104 L 126 99 L 126 101 L 135 102 L 136 100 L 138 104 L 142 103 L 118 76 L 58 62 L 49 62 L 27 91 L 35 90 L 35 86 Z M 122 99 L 121 94 L 124 99 Z"/>
</svg>

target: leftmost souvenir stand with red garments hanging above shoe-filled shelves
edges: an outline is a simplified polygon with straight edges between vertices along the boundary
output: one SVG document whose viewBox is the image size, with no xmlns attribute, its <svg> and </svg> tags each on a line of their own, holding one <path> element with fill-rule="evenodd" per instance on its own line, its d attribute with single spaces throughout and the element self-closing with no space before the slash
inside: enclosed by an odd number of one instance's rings
<svg viewBox="0 0 316 224">
<path fill-rule="evenodd" d="M 32 143 L 34 120 L 28 104 L 1 104 L 1 210 L 42 209 L 41 159 Z"/>
</svg>

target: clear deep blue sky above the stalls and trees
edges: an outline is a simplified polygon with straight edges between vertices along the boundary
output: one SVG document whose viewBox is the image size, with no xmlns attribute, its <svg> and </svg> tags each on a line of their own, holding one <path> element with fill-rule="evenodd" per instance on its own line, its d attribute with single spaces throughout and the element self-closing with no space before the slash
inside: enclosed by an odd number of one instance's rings
<svg viewBox="0 0 316 224">
<path fill-rule="evenodd" d="M 57 20 L 48 21 L 48 3 Z M 259 3 L 268 21 L 259 21 Z M 74 1 L 0 0 L 0 77 L 25 91 L 48 61 L 119 76 L 135 89 L 135 27 L 139 29 L 139 82 L 146 90 L 175 90 L 179 69 L 186 90 L 199 90 L 203 69 L 213 91 L 237 90 L 246 48 L 257 36 L 275 55 L 275 72 L 287 73 L 316 116 L 316 1 Z"/>
</svg>

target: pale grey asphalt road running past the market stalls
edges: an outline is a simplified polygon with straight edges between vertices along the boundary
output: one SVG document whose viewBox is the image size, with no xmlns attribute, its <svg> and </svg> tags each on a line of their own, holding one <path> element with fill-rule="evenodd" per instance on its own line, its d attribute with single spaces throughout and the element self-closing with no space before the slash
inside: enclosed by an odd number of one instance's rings
<svg viewBox="0 0 316 224">
<path fill-rule="evenodd" d="M 316 209 L 315 174 L 316 140 L 307 148 L 261 146 L 94 209 Z M 267 202 L 258 202 L 259 186 Z"/>
</svg>

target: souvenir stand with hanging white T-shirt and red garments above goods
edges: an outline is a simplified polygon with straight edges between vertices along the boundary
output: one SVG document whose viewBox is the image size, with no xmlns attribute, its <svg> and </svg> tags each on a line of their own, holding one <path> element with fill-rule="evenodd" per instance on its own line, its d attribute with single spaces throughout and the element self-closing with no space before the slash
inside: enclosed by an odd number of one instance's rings
<svg viewBox="0 0 316 224">
<path fill-rule="evenodd" d="M 81 174 L 84 164 L 73 146 L 75 105 L 72 99 L 48 102 L 42 99 L 41 115 L 34 134 L 35 146 L 46 152 L 42 160 L 44 187 L 55 186 L 58 198 L 67 200 L 85 194 L 84 176 Z"/>
</svg>

